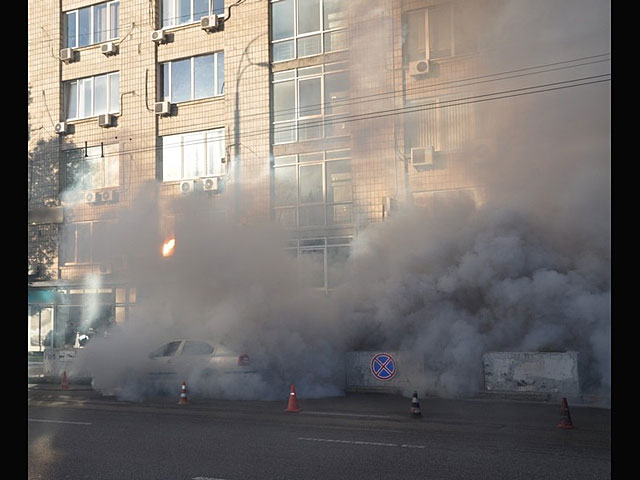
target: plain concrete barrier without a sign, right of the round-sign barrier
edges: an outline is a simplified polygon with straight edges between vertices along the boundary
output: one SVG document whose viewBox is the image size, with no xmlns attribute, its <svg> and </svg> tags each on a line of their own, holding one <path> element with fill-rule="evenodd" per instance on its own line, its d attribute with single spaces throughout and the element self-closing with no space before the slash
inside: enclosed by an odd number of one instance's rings
<svg viewBox="0 0 640 480">
<path fill-rule="evenodd" d="M 578 395 L 578 352 L 487 352 L 482 356 L 487 391 Z"/>
</svg>

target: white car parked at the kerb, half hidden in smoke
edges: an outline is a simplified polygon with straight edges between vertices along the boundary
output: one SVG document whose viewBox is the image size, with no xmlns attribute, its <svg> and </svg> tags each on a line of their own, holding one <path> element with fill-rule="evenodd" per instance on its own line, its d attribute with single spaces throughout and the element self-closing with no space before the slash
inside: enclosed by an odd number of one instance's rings
<svg viewBox="0 0 640 480">
<path fill-rule="evenodd" d="M 249 355 L 204 340 L 173 340 L 149 354 L 148 373 L 157 378 L 207 380 L 219 374 L 255 373 Z"/>
</svg>

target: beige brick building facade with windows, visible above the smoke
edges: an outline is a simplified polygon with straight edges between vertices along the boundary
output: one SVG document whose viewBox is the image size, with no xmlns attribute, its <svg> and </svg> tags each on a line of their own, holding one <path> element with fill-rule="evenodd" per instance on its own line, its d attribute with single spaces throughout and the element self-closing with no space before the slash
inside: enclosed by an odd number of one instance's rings
<svg viewBox="0 0 640 480">
<path fill-rule="evenodd" d="M 66 327 L 84 295 L 100 296 L 102 324 L 127 321 L 138 294 L 127 259 L 83 242 L 149 183 L 173 218 L 183 186 L 214 179 L 195 192 L 211 211 L 282 225 L 325 290 L 351 240 L 397 206 L 478 200 L 474 107 L 451 103 L 447 84 L 474 75 L 478 52 L 458 24 L 480 3 L 30 0 L 29 351 L 77 341 Z M 202 28 L 202 5 L 221 27 Z"/>
</svg>

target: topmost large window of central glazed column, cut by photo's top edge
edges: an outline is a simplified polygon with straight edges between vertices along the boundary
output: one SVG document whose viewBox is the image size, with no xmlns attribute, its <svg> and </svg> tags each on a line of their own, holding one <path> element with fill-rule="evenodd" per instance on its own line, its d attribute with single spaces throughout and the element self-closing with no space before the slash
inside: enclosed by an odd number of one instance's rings
<svg viewBox="0 0 640 480">
<path fill-rule="evenodd" d="M 347 48 L 346 15 L 340 0 L 272 0 L 274 62 Z"/>
</svg>

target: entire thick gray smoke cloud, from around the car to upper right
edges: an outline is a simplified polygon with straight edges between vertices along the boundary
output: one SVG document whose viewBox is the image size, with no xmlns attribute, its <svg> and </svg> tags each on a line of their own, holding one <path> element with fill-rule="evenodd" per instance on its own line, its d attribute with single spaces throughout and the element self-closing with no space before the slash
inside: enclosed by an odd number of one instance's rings
<svg viewBox="0 0 640 480">
<path fill-rule="evenodd" d="M 608 53 L 609 9 L 606 1 L 504 2 L 481 39 L 492 52 L 486 71 Z M 603 62 L 483 85 L 482 93 L 607 71 Z M 585 391 L 610 394 L 609 108 L 608 83 L 478 106 L 496 144 L 476 166 L 483 203 L 407 207 L 368 227 L 354 241 L 345 285 L 331 295 L 301 286 L 304 267 L 285 255 L 274 225 L 183 215 L 175 254 L 162 258 L 151 185 L 112 236 L 139 286 L 132 319 L 93 339 L 80 364 L 97 388 L 141 398 L 152 349 L 209 338 L 249 352 L 269 372 L 220 380 L 209 393 L 282 399 L 291 383 L 307 397 L 341 394 L 345 352 L 388 348 L 424 355 L 416 388 L 456 396 L 482 388 L 486 351 L 576 350 Z M 204 208 L 199 202 L 178 199 L 174 209 Z"/>
</svg>

